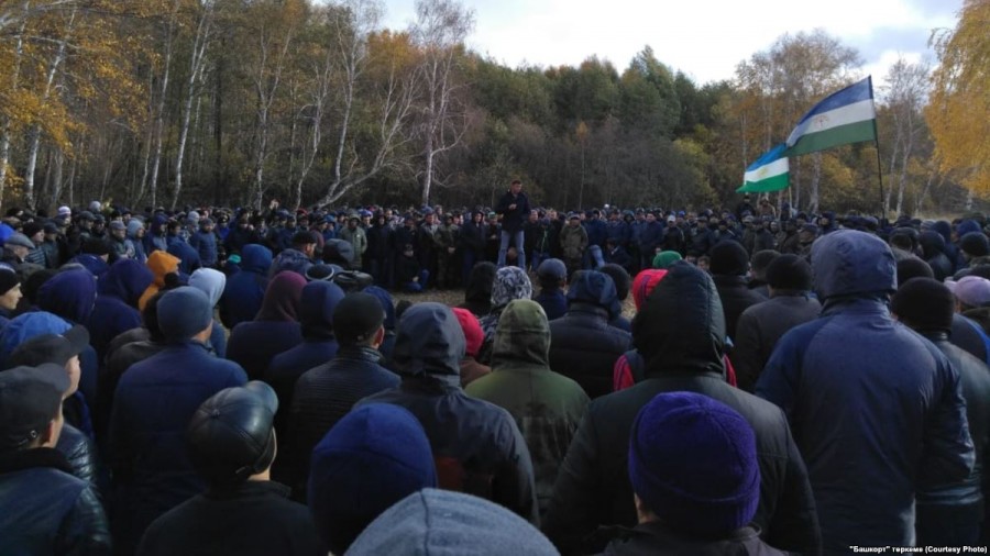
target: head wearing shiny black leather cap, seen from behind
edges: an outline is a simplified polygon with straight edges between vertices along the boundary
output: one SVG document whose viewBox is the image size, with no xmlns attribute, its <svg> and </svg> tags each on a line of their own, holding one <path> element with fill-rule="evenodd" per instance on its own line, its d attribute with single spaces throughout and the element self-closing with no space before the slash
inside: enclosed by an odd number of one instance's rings
<svg viewBox="0 0 990 556">
<path fill-rule="evenodd" d="M 186 429 L 189 459 L 213 490 L 267 480 L 275 460 L 278 397 L 253 380 L 226 388 L 202 402 Z"/>
</svg>

